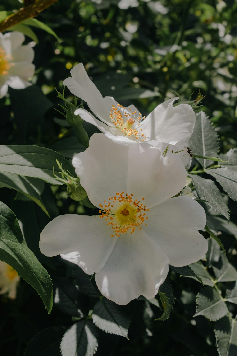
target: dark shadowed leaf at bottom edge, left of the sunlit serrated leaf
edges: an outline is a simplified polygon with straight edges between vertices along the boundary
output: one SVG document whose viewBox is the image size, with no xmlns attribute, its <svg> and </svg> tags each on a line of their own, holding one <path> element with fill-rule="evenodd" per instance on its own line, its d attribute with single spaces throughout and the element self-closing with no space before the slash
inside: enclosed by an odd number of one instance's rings
<svg viewBox="0 0 237 356">
<path fill-rule="evenodd" d="M 39 331 L 29 341 L 23 356 L 61 356 L 60 341 L 64 333 L 64 326 L 51 326 Z"/>
</svg>

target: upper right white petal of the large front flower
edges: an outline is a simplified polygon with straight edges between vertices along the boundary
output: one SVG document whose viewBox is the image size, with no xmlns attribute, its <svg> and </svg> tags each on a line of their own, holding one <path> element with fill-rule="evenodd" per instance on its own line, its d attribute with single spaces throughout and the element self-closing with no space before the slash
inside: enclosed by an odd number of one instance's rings
<svg viewBox="0 0 237 356">
<path fill-rule="evenodd" d="M 178 157 L 162 157 L 147 143 L 129 146 L 128 193 L 150 208 L 173 197 L 183 189 L 187 172 Z"/>
</svg>

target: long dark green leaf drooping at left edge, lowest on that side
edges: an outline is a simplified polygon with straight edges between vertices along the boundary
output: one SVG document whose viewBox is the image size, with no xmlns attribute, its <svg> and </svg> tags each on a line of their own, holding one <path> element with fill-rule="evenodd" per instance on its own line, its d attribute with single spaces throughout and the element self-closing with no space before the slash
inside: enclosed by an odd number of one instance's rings
<svg viewBox="0 0 237 356">
<path fill-rule="evenodd" d="M 0 260 L 6 262 L 38 292 L 50 313 L 53 288 L 46 269 L 34 256 L 23 239 L 16 215 L 0 202 Z"/>
</svg>

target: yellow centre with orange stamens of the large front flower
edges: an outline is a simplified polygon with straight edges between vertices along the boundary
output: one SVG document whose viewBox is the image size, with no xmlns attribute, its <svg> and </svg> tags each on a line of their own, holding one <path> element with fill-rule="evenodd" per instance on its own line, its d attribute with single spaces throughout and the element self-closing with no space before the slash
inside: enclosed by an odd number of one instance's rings
<svg viewBox="0 0 237 356">
<path fill-rule="evenodd" d="M 144 201 L 145 198 L 142 198 Z M 141 203 L 137 199 L 133 198 L 133 194 L 116 193 L 114 197 L 108 198 L 108 201 L 104 200 L 104 204 L 99 204 L 101 210 L 99 218 L 104 218 L 107 221 L 107 225 L 113 230 L 112 237 L 114 235 L 120 236 L 125 232 L 133 234 L 136 227 L 141 230 L 140 225 L 146 226 L 146 205 Z"/>
</svg>

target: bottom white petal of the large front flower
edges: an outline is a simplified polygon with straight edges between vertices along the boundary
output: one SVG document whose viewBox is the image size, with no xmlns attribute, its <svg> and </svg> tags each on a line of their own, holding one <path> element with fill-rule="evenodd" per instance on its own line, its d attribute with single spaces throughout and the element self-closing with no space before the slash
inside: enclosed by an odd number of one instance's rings
<svg viewBox="0 0 237 356">
<path fill-rule="evenodd" d="M 138 229 L 118 238 L 95 281 L 106 298 L 120 305 L 128 304 L 139 295 L 151 299 L 165 281 L 168 263 L 160 247 Z"/>
</svg>

